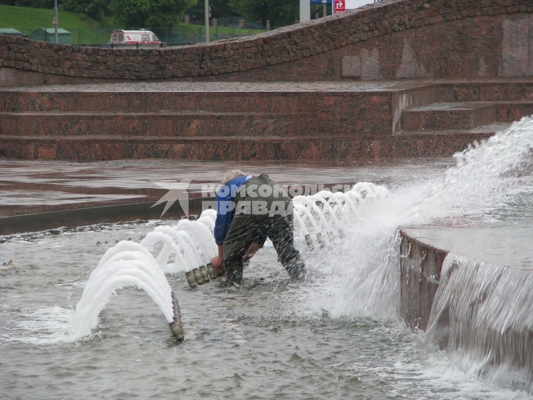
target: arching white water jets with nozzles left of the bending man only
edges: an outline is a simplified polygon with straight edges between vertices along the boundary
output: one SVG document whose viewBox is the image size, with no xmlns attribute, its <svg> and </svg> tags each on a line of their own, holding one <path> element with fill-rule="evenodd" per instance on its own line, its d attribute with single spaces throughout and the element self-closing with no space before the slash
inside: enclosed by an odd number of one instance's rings
<svg viewBox="0 0 533 400">
<path fill-rule="evenodd" d="M 165 273 L 185 271 L 191 287 L 216 278 L 209 261 L 216 250 L 214 237 L 209 230 L 212 216 L 213 213 L 208 210 L 197 221 L 182 220 L 174 227 L 159 226 L 140 243 L 122 241 L 108 249 L 89 276 L 76 306 L 71 337 L 76 339 L 91 333 L 112 293 L 125 286 L 135 286 L 156 302 L 173 336 L 183 341 L 180 307 Z M 154 245 L 159 242 L 163 243 L 163 248 L 155 259 L 150 251 L 154 251 Z M 175 262 L 169 264 L 171 254 L 174 254 Z M 200 255 L 203 255 L 204 261 Z"/>
</svg>

